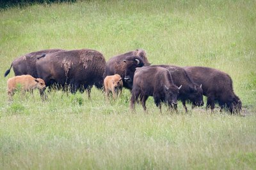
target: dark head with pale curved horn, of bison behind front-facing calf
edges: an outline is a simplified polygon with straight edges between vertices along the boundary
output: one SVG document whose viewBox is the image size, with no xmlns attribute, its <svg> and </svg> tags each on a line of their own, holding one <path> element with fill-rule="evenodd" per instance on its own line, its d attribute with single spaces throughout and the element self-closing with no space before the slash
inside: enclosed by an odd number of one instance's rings
<svg viewBox="0 0 256 170">
<path fill-rule="evenodd" d="M 124 81 L 125 81 L 125 83 L 127 83 L 128 88 L 132 89 L 133 76 L 134 76 L 134 72 L 136 71 L 136 67 L 144 66 L 144 62 L 138 56 L 127 57 L 124 60 L 124 62 L 125 62 L 125 66 L 124 66 L 124 69 L 125 69 Z"/>
</svg>

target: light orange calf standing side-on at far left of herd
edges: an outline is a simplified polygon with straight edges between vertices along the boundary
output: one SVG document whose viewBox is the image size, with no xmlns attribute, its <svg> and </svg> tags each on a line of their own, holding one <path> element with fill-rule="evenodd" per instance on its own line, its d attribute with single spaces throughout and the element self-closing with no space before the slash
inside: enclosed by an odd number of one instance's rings
<svg viewBox="0 0 256 170">
<path fill-rule="evenodd" d="M 21 75 L 21 76 L 14 76 L 7 80 L 7 93 L 9 96 L 9 100 L 12 100 L 12 96 L 19 88 L 22 90 L 24 94 L 26 91 L 29 91 L 33 94 L 33 89 L 45 89 L 45 82 L 41 78 L 33 78 L 31 75 Z"/>
</svg>

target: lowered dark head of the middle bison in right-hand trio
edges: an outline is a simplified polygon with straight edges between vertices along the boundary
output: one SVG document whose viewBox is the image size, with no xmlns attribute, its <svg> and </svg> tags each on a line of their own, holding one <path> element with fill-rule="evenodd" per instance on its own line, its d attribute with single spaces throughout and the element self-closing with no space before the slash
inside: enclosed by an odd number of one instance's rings
<svg viewBox="0 0 256 170">
<path fill-rule="evenodd" d="M 192 106 L 204 106 L 202 85 L 189 87 L 188 99 L 191 101 Z"/>
</svg>

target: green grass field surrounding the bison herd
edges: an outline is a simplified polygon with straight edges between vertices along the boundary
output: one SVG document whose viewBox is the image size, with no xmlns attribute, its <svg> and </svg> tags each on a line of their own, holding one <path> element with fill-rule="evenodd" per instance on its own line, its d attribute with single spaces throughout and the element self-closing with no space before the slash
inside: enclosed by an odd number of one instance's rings
<svg viewBox="0 0 256 170">
<path fill-rule="evenodd" d="M 0 11 L 0 169 L 256 169 L 255 1 L 79 1 Z M 15 94 L 13 59 L 47 48 L 92 48 L 108 60 L 136 48 L 152 64 L 208 66 L 230 74 L 241 115 L 205 106 L 185 114 L 129 110 L 92 89 Z"/>
</svg>

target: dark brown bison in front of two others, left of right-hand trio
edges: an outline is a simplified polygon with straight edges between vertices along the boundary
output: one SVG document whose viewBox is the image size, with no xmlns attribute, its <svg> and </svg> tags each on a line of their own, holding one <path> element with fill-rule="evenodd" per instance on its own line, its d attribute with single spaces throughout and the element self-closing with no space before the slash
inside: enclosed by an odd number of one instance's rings
<svg viewBox="0 0 256 170">
<path fill-rule="evenodd" d="M 174 85 L 170 71 L 163 67 L 137 68 L 132 86 L 131 109 L 134 110 L 134 103 L 140 98 L 143 109 L 146 110 L 148 96 L 153 96 L 160 112 L 162 102 L 168 103 L 169 108 L 174 106 L 177 110 L 177 97 L 181 87 Z"/>
</svg>

